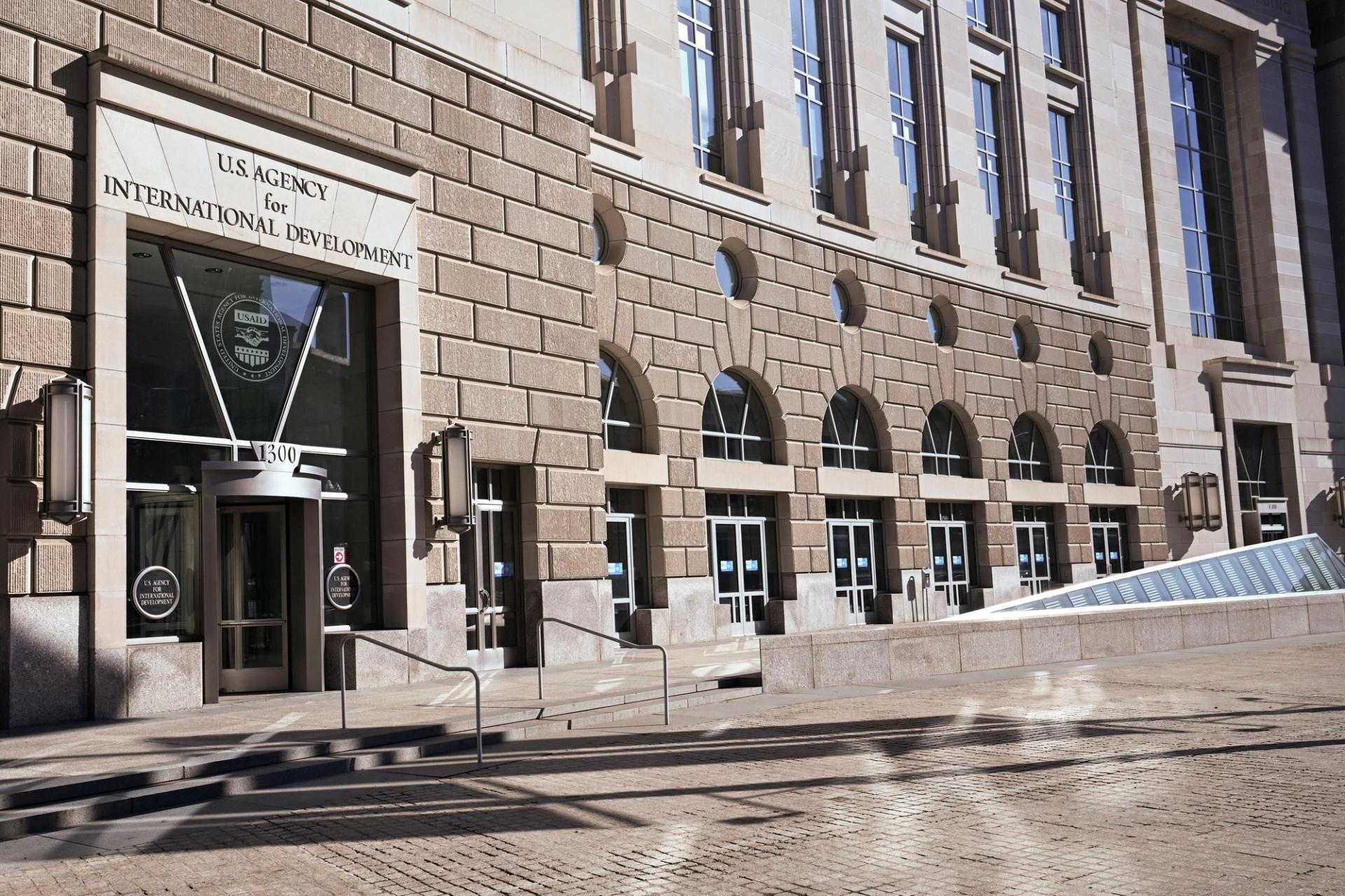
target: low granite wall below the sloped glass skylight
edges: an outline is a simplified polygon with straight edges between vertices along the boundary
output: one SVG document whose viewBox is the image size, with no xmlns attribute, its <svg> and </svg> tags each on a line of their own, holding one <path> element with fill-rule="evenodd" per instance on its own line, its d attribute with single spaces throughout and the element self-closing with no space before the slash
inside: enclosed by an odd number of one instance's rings
<svg viewBox="0 0 1345 896">
<path fill-rule="evenodd" d="M 768 693 L 1345 631 L 1345 594 L 853 626 L 761 638 Z"/>
</svg>

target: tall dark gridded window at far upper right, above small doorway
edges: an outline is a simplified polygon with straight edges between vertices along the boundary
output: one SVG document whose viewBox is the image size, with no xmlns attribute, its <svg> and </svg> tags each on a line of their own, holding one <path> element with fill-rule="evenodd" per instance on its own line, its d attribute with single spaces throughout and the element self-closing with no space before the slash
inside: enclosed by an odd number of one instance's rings
<svg viewBox="0 0 1345 896">
<path fill-rule="evenodd" d="M 1169 40 L 1167 91 L 1190 329 L 1196 336 L 1241 341 L 1245 339 L 1243 289 L 1219 58 L 1181 40 Z"/>
</svg>

